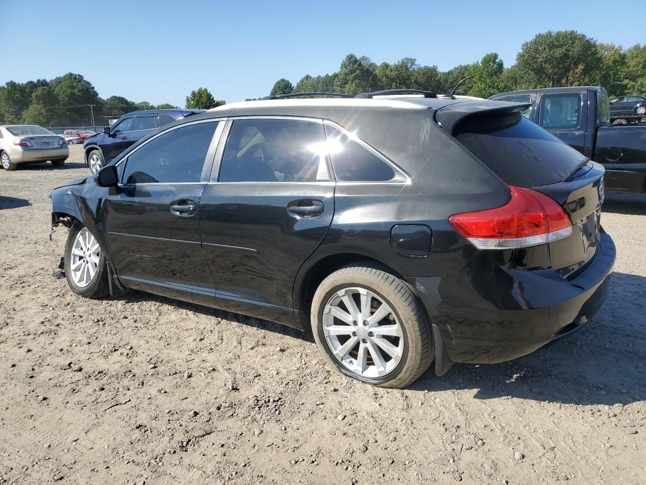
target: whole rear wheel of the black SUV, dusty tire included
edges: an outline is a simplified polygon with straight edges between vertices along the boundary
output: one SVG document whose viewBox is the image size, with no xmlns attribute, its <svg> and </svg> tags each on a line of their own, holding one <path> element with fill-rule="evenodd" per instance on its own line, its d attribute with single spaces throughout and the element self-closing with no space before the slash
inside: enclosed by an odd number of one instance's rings
<svg viewBox="0 0 646 485">
<path fill-rule="evenodd" d="M 379 387 L 406 387 L 435 356 L 412 289 L 370 263 L 351 264 L 318 286 L 311 306 L 318 349 L 338 371 Z"/>
</svg>

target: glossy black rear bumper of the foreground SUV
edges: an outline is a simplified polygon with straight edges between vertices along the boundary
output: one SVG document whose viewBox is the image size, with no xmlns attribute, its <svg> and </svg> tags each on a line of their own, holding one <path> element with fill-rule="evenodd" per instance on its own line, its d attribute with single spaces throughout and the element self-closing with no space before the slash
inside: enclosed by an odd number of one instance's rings
<svg viewBox="0 0 646 485">
<path fill-rule="evenodd" d="M 503 362 L 529 354 L 592 318 L 608 294 L 615 255 L 614 242 L 601 233 L 594 261 L 569 281 L 554 270 L 483 268 L 471 261 L 457 275 L 417 278 L 415 289 L 441 330 L 450 361 Z"/>
</svg>

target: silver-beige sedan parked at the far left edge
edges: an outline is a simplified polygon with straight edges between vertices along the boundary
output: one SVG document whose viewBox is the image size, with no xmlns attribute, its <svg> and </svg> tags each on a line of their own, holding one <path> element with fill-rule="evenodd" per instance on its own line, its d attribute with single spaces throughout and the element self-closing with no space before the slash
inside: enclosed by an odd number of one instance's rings
<svg viewBox="0 0 646 485">
<path fill-rule="evenodd" d="M 61 167 L 70 155 L 67 141 L 36 125 L 0 125 L 0 164 L 15 170 L 18 164 L 52 162 Z"/>
</svg>

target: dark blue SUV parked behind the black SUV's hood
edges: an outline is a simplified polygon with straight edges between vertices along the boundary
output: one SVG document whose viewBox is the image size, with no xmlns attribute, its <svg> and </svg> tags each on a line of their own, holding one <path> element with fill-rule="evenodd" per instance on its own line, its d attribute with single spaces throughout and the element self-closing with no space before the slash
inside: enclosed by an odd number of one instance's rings
<svg viewBox="0 0 646 485">
<path fill-rule="evenodd" d="M 201 109 L 149 109 L 126 113 L 111 127 L 85 139 L 85 163 L 92 173 L 96 173 L 127 147 L 156 129 L 202 112 Z"/>
</svg>

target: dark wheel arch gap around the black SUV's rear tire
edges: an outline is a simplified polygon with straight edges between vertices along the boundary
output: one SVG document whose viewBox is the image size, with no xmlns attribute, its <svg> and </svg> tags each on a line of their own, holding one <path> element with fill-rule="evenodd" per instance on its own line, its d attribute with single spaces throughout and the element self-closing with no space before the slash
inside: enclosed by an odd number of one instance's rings
<svg viewBox="0 0 646 485">
<path fill-rule="evenodd" d="M 366 262 L 379 266 L 379 268 L 390 272 L 402 281 L 406 279 L 402 277 L 399 272 L 388 266 L 388 264 L 370 257 L 368 255 L 358 252 L 344 252 L 329 254 L 320 257 L 317 261 L 310 263 L 307 267 L 302 267 L 297 274 L 297 279 L 294 285 L 294 302 L 298 308 L 298 323 L 302 329 L 311 334 L 311 325 L 309 323 L 309 310 L 311 308 L 312 299 L 320 285 L 321 281 L 326 279 L 333 272 L 352 263 Z"/>
</svg>

